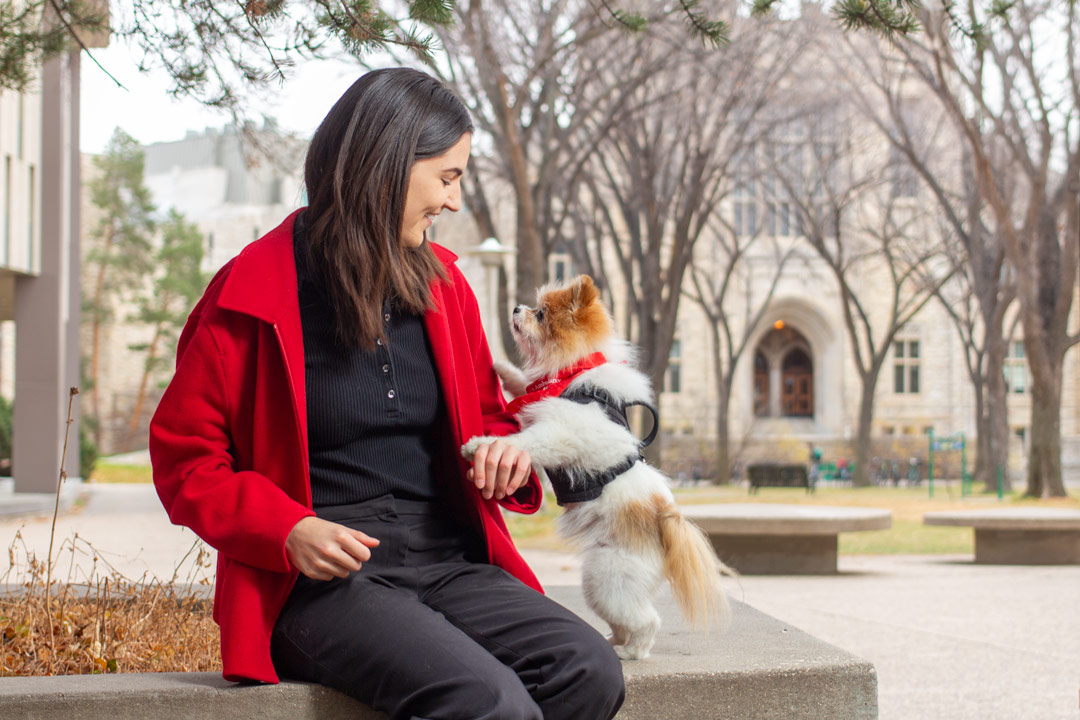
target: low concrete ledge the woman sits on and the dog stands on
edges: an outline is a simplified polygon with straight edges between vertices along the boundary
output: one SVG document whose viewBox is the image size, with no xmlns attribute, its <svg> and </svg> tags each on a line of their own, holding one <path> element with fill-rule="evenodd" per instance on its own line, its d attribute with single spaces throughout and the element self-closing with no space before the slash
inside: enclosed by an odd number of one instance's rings
<svg viewBox="0 0 1080 720">
<path fill-rule="evenodd" d="M 551 596 L 604 628 L 580 587 L 554 587 Z M 877 717 L 877 675 L 866 661 L 740 602 L 725 634 L 687 630 L 669 595 L 660 611 L 652 655 L 623 663 L 619 720 Z M 0 678 L 0 708 L 4 720 L 387 718 L 319 685 L 235 685 L 212 673 Z"/>
</svg>

